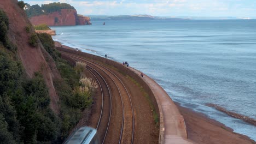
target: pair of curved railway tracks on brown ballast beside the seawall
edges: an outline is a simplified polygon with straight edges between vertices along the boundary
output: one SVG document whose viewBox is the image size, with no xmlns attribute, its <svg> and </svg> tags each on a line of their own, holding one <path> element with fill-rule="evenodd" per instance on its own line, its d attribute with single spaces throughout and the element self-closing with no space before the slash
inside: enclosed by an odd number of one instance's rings
<svg viewBox="0 0 256 144">
<path fill-rule="evenodd" d="M 94 75 L 100 85 L 102 92 L 102 108 L 101 115 L 97 124 L 97 129 L 99 131 L 102 143 L 133 143 L 135 118 L 131 96 L 127 91 L 124 83 L 119 79 L 117 75 L 115 75 L 112 71 L 101 64 L 90 61 L 84 57 L 82 58 L 71 55 L 70 53 L 62 52 L 62 54 L 74 59 L 75 61 L 85 62 L 87 64 L 86 69 L 88 69 L 90 73 Z M 111 83 L 107 83 L 110 81 Z M 105 86 L 103 87 L 101 83 L 103 83 Z M 112 104 L 117 107 L 117 109 L 113 109 L 113 113 Z M 121 121 L 119 120 L 119 123 L 110 123 L 111 119 L 113 118 L 115 118 L 115 121 L 118 122 L 118 119 L 120 119 L 119 116 L 122 117 Z M 118 133 L 115 133 L 115 135 L 109 135 L 108 130 L 112 132 L 119 131 L 119 140 L 113 141 L 113 136 L 117 137 Z"/>
</svg>

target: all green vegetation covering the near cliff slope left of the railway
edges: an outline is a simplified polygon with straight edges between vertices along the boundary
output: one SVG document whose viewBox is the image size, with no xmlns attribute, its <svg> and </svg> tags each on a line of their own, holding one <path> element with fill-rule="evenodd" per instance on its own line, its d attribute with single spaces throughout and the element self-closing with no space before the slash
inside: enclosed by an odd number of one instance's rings
<svg viewBox="0 0 256 144">
<path fill-rule="evenodd" d="M 60 143 L 78 123 L 81 111 L 90 107 L 90 86 L 94 84 L 79 82 L 80 74 L 54 49 L 50 35 L 32 33 L 32 41 L 40 38 L 63 78 L 54 81 L 61 105 L 60 115 L 56 116 L 49 106 L 43 75 L 35 73 L 32 79 L 28 78 L 17 53 L 8 48 L 13 44 L 7 37 L 8 17 L 2 10 L 0 20 L 0 143 Z M 30 26 L 25 29 L 31 31 Z M 80 87 L 91 89 L 78 91 Z"/>
</svg>

